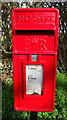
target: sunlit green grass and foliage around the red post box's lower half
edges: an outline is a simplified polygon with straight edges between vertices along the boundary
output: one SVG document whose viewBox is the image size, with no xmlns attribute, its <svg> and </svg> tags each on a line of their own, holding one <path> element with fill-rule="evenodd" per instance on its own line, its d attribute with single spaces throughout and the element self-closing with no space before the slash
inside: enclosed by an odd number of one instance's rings
<svg viewBox="0 0 67 120">
<path fill-rule="evenodd" d="M 38 120 L 67 120 L 67 75 L 57 74 L 56 104 L 53 112 L 38 112 Z M 3 83 L 2 120 L 29 120 L 30 112 L 15 111 L 13 108 L 13 82 L 8 78 Z"/>
</svg>

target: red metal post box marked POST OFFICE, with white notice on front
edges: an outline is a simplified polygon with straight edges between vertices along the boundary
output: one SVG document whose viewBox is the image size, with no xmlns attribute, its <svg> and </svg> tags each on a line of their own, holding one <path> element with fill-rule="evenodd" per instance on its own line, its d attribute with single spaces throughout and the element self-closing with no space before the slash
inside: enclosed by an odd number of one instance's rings
<svg viewBox="0 0 67 120">
<path fill-rule="evenodd" d="M 54 109 L 58 17 L 55 8 L 12 10 L 14 108 L 17 111 Z"/>
</svg>

